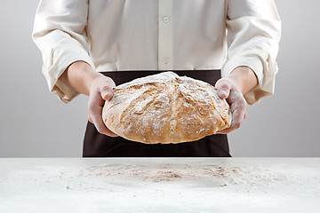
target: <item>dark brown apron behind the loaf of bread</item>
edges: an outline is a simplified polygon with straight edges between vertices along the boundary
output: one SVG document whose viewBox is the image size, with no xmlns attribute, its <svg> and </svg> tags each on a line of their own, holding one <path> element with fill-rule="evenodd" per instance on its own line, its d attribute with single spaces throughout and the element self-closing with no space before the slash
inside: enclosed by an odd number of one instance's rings
<svg viewBox="0 0 320 213">
<path fill-rule="evenodd" d="M 130 82 L 135 78 L 154 75 L 161 71 L 116 71 L 103 72 L 116 85 Z M 220 70 L 174 71 L 178 75 L 202 80 L 214 85 L 220 79 Z M 147 145 L 121 137 L 111 138 L 100 134 L 88 122 L 84 135 L 84 157 L 231 157 L 227 135 L 212 135 L 194 142 L 180 144 Z"/>
</svg>

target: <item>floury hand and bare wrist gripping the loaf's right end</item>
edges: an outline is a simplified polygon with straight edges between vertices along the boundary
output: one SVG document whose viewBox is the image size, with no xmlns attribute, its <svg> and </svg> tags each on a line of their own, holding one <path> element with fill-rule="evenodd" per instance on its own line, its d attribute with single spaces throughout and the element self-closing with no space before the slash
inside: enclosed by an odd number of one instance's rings
<svg viewBox="0 0 320 213">
<path fill-rule="evenodd" d="M 236 67 L 230 75 L 215 84 L 219 97 L 227 100 L 232 114 L 231 126 L 217 132 L 218 134 L 228 134 L 241 126 L 247 110 L 243 94 L 251 91 L 257 84 L 257 77 L 249 67 Z"/>
</svg>

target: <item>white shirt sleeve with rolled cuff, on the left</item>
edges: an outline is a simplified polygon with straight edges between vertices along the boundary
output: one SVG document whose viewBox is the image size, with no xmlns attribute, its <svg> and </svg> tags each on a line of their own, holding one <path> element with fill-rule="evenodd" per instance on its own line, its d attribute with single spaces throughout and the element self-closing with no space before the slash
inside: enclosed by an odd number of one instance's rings
<svg viewBox="0 0 320 213">
<path fill-rule="evenodd" d="M 75 61 L 93 67 L 85 28 L 87 0 L 42 0 L 36 11 L 32 37 L 43 57 L 43 73 L 49 90 L 65 103 L 78 94 L 59 77 Z"/>
</svg>

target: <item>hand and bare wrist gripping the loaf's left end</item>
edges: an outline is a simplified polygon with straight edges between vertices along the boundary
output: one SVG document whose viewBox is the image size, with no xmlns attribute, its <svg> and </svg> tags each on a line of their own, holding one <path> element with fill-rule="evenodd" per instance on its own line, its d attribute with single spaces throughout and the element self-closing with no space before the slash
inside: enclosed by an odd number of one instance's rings
<svg viewBox="0 0 320 213">
<path fill-rule="evenodd" d="M 76 61 L 60 76 L 60 81 L 72 87 L 75 91 L 89 96 L 88 118 L 96 129 L 110 137 L 116 137 L 116 133 L 108 130 L 102 121 L 102 109 L 105 101 L 112 99 L 114 81 L 100 73 L 84 61 Z"/>
</svg>

